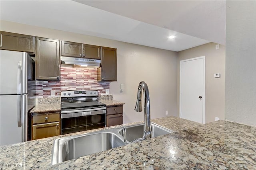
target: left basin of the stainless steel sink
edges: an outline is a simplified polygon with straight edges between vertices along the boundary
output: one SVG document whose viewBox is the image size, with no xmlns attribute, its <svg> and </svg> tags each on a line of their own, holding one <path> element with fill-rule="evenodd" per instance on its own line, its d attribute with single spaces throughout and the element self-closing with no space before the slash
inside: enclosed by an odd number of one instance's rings
<svg viewBox="0 0 256 170">
<path fill-rule="evenodd" d="M 59 138 L 54 141 L 52 164 L 124 145 L 122 136 L 110 131 Z"/>
</svg>

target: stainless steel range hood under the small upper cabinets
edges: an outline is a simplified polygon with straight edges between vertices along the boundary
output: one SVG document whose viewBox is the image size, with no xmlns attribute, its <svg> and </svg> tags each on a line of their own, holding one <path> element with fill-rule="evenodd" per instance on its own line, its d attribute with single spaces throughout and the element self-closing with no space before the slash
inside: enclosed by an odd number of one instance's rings
<svg viewBox="0 0 256 170">
<path fill-rule="evenodd" d="M 94 66 L 100 67 L 100 60 L 97 59 L 86 59 L 86 58 L 76 58 L 76 57 L 60 57 L 61 64 L 76 64 L 81 66 Z"/>
</svg>

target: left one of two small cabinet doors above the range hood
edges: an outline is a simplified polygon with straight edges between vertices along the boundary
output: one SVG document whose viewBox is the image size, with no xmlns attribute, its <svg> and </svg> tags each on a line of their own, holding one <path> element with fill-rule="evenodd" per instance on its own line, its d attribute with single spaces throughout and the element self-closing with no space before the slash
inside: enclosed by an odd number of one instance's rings
<svg viewBox="0 0 256 170">
<path fill-rule="evenodd" d="M 80 43 L 61 41 L 61 55 L 67 57 L 83 57 L 83 47 Z"/>
</svg>

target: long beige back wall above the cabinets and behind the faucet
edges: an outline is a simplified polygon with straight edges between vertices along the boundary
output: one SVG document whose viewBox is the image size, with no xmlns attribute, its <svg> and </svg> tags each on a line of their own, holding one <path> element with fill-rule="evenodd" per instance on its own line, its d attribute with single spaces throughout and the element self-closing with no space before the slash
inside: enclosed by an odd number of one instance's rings
<svg viewBox="0 0 256 170">
<path fill-rule="evenodd" d="M 125 102 L 124 123 L 144 120 L 143 112 L 134 111 L 140 81 L 148 84 L 151 118 L 165 117 L 166 110 L 168 110 L 168 115 L 177 115 L 176 52 L 8 21 L 1 21 L 0 29 L 117 48 L 118 81 L 110 83 L 110 93 L 114 95 L 114 100 Z M 124 84 L 124 92 L 120 92 L 120 84 Z"/>
</svg>

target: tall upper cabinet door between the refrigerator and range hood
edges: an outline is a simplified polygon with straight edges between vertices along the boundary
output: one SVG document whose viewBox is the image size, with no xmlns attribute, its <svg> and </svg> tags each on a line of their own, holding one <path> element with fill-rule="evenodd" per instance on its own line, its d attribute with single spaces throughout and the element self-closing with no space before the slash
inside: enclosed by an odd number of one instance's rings
<svg viewBox="0 0 256 170">
<path fill-rule="evenodd" d="M 60 80 L 60 41 L 36 37 L 36 79 Z"/>
</svg>

